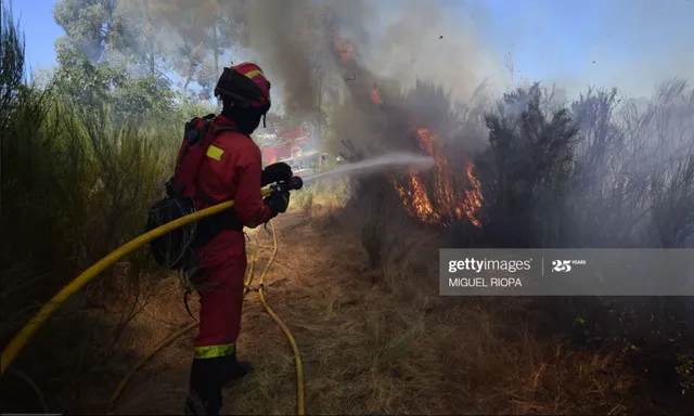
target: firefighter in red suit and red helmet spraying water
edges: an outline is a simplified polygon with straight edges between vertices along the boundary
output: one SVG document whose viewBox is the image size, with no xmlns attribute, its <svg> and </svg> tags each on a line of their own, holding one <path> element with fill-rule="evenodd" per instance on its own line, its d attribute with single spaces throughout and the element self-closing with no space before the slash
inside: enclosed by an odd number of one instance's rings
<svg viewBox="0 0 694 416">
<path fill-rule="evenodd" d="M 260 193 L 261 186 L 292 177 L 286 164 L 264 170 L 260 148 L 249 138 L 261 119 L 265 126 L 270 109 L 270 82 L 260 67 L 243 63 L 224 68 L 215 95 L 222 102 L 216 126 L 233 129 L 221 131 L 215 139 L 214 151 L 207 152 L 200 168 L 197 186 L 214 200 L 234 199 L 235 226 L 218 224 L 221 230 L 196 250 L 198 270 L 193 282 L 198 287 L 201 309 L 185 401 L 189 415 L 219 414 L 222 388 L 253 369 L 250 363 L 236 360 L 246 270 L 243 226 L 267 223 L 285 212 L 290 204 L 288 192 L 265 199 Z M 196 205 L 205 208 L 208 204 L 196 199 Z"/>
</svg>

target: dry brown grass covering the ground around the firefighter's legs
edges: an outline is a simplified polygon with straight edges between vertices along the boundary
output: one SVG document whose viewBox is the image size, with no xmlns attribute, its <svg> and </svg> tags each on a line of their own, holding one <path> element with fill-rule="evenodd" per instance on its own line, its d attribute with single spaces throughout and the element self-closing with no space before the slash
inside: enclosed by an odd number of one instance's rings
<svg viewBox="0 0 694 416">
<path fill-rule="evenodd" d="M 558 340 L 535 336 L 523 318 L 523 299 L 439 297 L 430 258 L 435 244 L 412 230 L 402 238 L 427 244 L 412 244 L 411 255 L 398 264 L 370 270 L 355 219 L 336 212 L 317 199 L 311 223 L 300 211 L 280 218 L 280 250 L 268 275 L 268 302 L 301 352 L 307 414 L 624 414 L 648 408 L 638 395 L 638 378 L 616 358 L 569 351 Z M 254 246 L 271 246 L 269 229 L 254 231 L 252 239 Z M 267 261 L 269 251 L 262 252 L 256 274 Z M 428 276 L 408 272 L 427 268 Z M 143 354 L 190 322 L 180 291 L 174 290 L 145 307 L 127 337 Z M 180 414 L 193 336 L 155 356 L 115 412 Z M 227 389 L 222 411 L 294 413 L 292 351 L 257 294 L 246 298 L 239 344 L 241 358 L 257 369 Z M 132 355 L 124 355 L 119 376 L 138 360 Z M 111 390 L 94 396 L 107 401 L 116 384 L 117 377 L 110 380 Z"/>
</svg>

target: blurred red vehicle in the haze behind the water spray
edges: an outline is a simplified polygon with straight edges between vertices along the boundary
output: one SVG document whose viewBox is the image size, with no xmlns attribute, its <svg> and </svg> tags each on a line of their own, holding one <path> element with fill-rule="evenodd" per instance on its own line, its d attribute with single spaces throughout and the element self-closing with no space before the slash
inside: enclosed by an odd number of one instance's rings
<svg viewBox="0 0 694 416">
<path fill-rule="evenodd" d="M 312 173 L 318 168 L 318 151 L 311 146 L 310 136 L 303 129 L 288 131 L 279 136 L 265 136 L 261 151 L 265 166 L 284 161 L 298 177 L 307 172 Z"/>
</svg>

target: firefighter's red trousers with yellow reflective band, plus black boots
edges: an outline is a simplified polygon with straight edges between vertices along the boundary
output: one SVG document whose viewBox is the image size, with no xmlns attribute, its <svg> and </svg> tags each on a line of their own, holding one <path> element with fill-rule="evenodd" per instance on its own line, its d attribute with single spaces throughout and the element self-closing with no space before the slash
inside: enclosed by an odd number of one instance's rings
<svg viewBox="0 0 694 416">
<path fill-rule="evenodd" d="M 200 294 L 200 328 L 191 367 L 187 414 L 217 415 L 222 388 L 250 367 L 236 361 L 246 252 L 243 232 L 222 231 L 198 250 L 193 281 Z"/>
</svg>

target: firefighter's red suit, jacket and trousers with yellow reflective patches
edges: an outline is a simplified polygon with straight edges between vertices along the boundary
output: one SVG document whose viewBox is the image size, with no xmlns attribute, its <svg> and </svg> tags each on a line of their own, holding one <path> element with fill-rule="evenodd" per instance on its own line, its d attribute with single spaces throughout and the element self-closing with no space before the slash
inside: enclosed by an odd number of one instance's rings
<svg viewBox="0 0 694 416">
<path fill-rule="evenodd" d="M 230 123 L 222 115 L 218 122 Z M 198 174 L 200 190 L 214 200 L 234 199 L 236 221 L 255 227 L 272 218 L 260 193 L 262 171 L 260 148 L 236 131 L 222 131 L 207 152 Z M 202 208 L 209 204 L 196 200 Z M 198 249 L 202 282 L 200 330 L 195 338 L 195 358 L 211 359 L 234 353 L 241 327 L 246 270 L 243 231 L 223 230 Z"/>
</svg>

